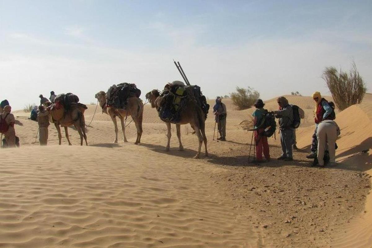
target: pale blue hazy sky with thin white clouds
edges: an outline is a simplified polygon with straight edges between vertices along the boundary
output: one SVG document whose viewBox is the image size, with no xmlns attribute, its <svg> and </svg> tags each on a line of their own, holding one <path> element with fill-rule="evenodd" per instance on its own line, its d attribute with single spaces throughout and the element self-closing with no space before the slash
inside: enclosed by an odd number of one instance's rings
<svg viewBox="0 0 372 248">
<path fill-rule="evenodd" d="M 330 95 L 321 74 L 352 61 L 372 92 L 372 1 L 0 0 L 0 99 L 82 103 L 113 84 L 182 80 L 209 99 L 252 87 L 270 99 Z"/>
</svg>

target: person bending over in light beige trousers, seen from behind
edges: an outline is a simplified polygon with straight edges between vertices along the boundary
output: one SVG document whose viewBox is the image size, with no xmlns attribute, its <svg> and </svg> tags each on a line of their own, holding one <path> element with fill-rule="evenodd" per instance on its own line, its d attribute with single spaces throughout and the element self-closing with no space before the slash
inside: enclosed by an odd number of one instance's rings
<svg viewBox="0 0 372 248">
<path fill-rule="evenodd" d="M 334 120 L 323 120 L 318 123 L 317 129 L 317 159 L 320 167 L 324 167 L 324 152 L 329 153 L 329 162 L 336 162 L 336 139 L 340 135 L 340 128 Z"/>
</svg>

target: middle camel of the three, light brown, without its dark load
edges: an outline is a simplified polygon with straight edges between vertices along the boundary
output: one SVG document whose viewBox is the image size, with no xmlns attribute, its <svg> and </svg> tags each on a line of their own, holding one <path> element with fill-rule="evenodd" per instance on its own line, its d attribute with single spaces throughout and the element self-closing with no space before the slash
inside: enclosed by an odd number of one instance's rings
<svg viewBox="0 0 372 248">
<path fill-rule="evenodd" d="M 128 142 L 125 136 L 125 120 L 128 116 L 131 116 L 133 122 L 137 128 L 137 139 L 134 144 L 141 143 L 142 136 L 142 118 L 143 118 L 143 103 L 142 100 L 136 96 L 130 96 L 127 99 L 127 106 L 125 109 L 118 109 L 114 106 L 107 106 L 106 104 L 106 93 L 105 91 L 99 91 L 95 95 L 99 102 L 99 106 L 102 108 L 102 113 L 106 113 L 111 117 L 112 122 L 115 126 L 115 140 L 114 143 L 118 143 L 118 124 L 116 122 L 116 116 L 119 117 L 121 122 L 121 130 L 123 132 L 123 141 Z"/>
</svg>

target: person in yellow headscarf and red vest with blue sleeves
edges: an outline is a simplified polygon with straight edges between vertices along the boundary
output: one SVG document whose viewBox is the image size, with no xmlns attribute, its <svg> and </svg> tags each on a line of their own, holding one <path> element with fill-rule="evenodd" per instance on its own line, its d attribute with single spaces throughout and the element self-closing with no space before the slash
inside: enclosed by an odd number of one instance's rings
<svg viewBox="0 0 372 248">
<path fill-rule="evenodd" d="M 307 155 L 307 158 L 313 159 L 317 157 L 317 149 L 318 149 L 318 140 L 317 140 L 317 129 L 318 123 L 323 120 L 327 120 L 328 116 L 332 113 L 332 108 L 328 104 L 328 101 L 321 97 L 320 92 L 315 91 L 312 94 L 312 99 L 315 102 L 315 110 L 314 110 L 314 121 L 315 121 L 315 130 L 312 135 L 312 142 L 311 142 L 311 153 Z"/>
</svg>

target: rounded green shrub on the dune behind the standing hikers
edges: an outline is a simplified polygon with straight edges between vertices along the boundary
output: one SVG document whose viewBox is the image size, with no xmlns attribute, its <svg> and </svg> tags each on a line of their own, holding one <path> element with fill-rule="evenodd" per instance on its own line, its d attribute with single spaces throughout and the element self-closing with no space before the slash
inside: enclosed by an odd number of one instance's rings
<svg viewBox="0 0 372 248">
<path fill-rule="evenodd" d="M 230 94 L 230 98 L 239 110 L 249 109 L 259 99 L 260 93 L 251 87 L 236 87 L 236 92 Z"/>
</svg>

